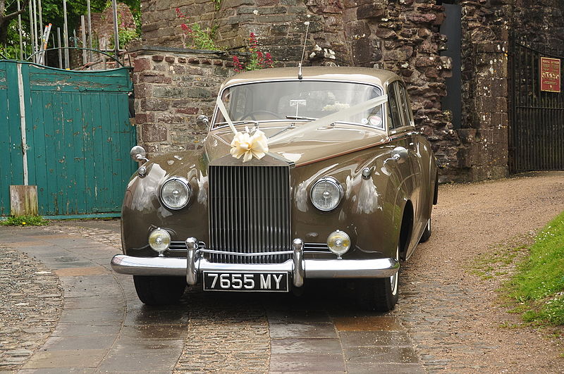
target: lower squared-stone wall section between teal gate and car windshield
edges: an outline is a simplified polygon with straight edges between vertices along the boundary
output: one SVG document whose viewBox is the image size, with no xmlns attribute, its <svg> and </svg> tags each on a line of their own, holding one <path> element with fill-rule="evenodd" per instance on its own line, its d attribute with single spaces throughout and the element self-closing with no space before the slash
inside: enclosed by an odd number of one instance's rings
<svg viewBox="0 0 564 374">
<path fill-rule="evenodd" d="M 207 128 L 195 118 L 212 117 L 221 82 L 234 74 L 231 58 L 162 47 L 132 55 L 138 143 L 149 156 L 200 147 Z"/>
</svg>

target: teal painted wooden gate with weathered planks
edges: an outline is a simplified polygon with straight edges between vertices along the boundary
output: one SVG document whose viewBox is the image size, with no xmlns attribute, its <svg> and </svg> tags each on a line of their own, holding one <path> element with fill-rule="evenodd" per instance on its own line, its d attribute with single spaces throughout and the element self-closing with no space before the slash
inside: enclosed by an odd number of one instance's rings
<svg viewBox="0 0 564 374">
<path fill-rule="evenodd" d="M 9 185 L 28 184 L 42 216 L 118 216 L 136 167 L 132 91 L 128 68 L 0 61 L 0 215 L 10 213 Z"/>
</svg>

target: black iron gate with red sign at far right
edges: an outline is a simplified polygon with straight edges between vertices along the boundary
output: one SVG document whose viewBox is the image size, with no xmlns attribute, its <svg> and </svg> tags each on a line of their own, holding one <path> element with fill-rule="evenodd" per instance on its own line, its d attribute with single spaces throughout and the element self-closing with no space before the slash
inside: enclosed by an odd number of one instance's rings
<svg viewBox="0 0 564 374">
<path fill-rule="evenodd" d="M 539 62 L 541 57 L 558 58 L 562 66 L 564 56 L 512 38 L 509 57 L 510 172 L 564 170 L 564 92 L 541 91 Z"/>
</svg>

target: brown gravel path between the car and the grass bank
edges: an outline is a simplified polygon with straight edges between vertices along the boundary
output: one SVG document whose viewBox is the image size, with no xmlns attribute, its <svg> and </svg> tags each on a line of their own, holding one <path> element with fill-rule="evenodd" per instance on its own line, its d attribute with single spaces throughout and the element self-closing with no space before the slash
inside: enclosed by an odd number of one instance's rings
<svg viewBox="0 0 564 374">
<path fill-rule="evenodd" d="M 393 312 L 431 372 L 564 372 L 562 338 L 548 338 L 550 329 L 507 327 L 522 321 L 498 299 L 506 275 L 484 280 L 471 269 L 477 255 L 530 237 L 561 211 L 563 172 L 441 186 L 431 239 L 405 263 L 403 299 Z"/>
</svg>

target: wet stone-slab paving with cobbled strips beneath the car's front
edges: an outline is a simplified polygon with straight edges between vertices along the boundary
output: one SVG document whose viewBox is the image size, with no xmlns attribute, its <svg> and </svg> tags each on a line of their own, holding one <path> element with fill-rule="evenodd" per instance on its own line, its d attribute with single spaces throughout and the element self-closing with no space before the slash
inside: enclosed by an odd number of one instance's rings
<svg viewBox="0 0 564 374">
<path fill-rule="evenodd" d="M 39 259 L 63 288 L 59 323 L 43 346 L 0 370 L 425 372 L 400 320 L 359 313 L 344 282 L 309 282 L 301 297 L 195 288 L 178 306 L 148 307 L 130 276 L 111 271 L 119 244 L 118 220 L 0 227 L 1 247 Z"/>
</svg>

